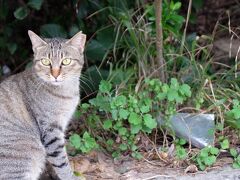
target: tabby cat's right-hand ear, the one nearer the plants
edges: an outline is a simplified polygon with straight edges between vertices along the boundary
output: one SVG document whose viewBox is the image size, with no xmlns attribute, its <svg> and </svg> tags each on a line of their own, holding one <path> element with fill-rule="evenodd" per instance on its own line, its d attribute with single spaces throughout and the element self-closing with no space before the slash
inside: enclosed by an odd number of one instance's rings
<svg viewBox="0 0 240 180">
<path fill-rule="evenodd" d="M 66 43 L 77 48 L 82 53 L 84 51 L 86 38 L 86 34 L 83 34 L 82 31 L 80 31 L 75 34 L 71 39 L 69 39 Z"/>
</svg>

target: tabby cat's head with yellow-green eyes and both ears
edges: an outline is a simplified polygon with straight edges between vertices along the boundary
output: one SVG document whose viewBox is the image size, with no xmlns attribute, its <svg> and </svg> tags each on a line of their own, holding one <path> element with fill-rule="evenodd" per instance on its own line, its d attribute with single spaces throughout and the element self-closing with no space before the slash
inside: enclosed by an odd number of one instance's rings
<svg viewBox="0 0 240 180">
<path fill-rule="evenodd" d="M 83 63 L 86 35 L 77 33 L 71 39 L 42 39 L 28 31 L 34 52 L 34 71 L 45 82 L 60 85 L 79 78 Z"/>
</svg>

